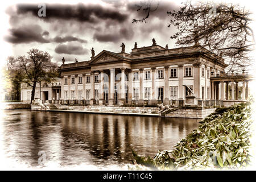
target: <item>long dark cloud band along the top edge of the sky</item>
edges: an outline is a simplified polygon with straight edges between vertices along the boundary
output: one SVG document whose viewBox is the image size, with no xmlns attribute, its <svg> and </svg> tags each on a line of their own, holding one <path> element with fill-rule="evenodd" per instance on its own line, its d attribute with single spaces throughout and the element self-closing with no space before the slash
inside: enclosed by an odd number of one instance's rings
<svg viewBox="0 0 256 182">
<path fill-rule="evenodd" d="M 18 4 L 16 5 L 18 14 L 32 13 L 38 16 L 38 4 Z M 46 4 L 46 17 L 40 17 L 44 20 L 49 19 L 65 19 L 78 20 L 79 22 L 95 23 L 97 19 L 112 19 L 119 23 L 127 19 L 126 14 L 119 13 L 116 9 L 108 9 L 100 5 L 61 5 L 61 4 Z"/>
</svg>

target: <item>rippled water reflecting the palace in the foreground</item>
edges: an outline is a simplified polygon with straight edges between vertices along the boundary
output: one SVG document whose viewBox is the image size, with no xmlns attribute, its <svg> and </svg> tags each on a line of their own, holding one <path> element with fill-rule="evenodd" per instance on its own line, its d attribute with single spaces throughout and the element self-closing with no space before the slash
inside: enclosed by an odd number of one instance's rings
<svg viewBox="0 0 256 182">
<path fill-rule="evenodd" d="M 196 119 L 30 110 L 1 112 L 0 147 L 5 160 L 2 165 L 7 168 L 123 169 L 131 164 L 132 148 L 140 155 L 154 157 L 158 150 L 171 150 L 199 125 Z M 43 163 L 39 163 L 39 158 Z"/>
</svg>

